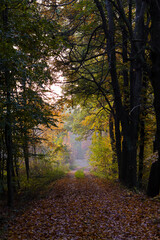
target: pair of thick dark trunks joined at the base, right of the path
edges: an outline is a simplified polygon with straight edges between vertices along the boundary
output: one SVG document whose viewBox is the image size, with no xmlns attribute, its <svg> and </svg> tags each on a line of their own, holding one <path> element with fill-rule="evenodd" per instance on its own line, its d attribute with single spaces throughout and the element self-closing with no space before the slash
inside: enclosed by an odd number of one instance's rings
<svg viewBox="0 0 160 240">
<path fill-rule="evenodd" d="M 131 41 L 131 71 L 130 71 L 130 112 L 125 110 L 125 105 L 122 105 L 122 97 L 116 69 L 116 52 L 115 52 L 115 26 L 114 13 L 112 3 L 105 0 L 107 10 L 107 20 L 105 12 L 99 0 L 94 0 L 100 12 L 104 33 L 107 39 L 107 55 L 111 75 L 111 83 L 114 93 L 115 110 L 118 119 L 122 125 L 122 158 L 121 158 L 121 179 L 130 186 L 137 186 L 137 140 L 139 127 L 139 114 L 141 104 L 141 88 L 142 88 L 142 72 L 143 72 L 143 31 L 144 31 L 144 14 L 146 3 L 142 0 L 135 1 L 136 3 L 136 22 L 135 29 L 132 30 L 132 1 L 129 1 L 129 21 L 125 16 L 123 4 L 121 0 L 117 0 L 119 13 L 122 19 L 125 19 L 125 24 L 129 31 L 129 39 Z M 130 25 L 129 25 L 130 23 Z M 125 46 L 125 45 L 124 45 Z M 125 53 L 125 52 L 124 52 Z M 125 57 L 125 54 L 124 54 Z M 127 84 L 126 72 L 123 73 L 124 82 Z"/>
</svg>

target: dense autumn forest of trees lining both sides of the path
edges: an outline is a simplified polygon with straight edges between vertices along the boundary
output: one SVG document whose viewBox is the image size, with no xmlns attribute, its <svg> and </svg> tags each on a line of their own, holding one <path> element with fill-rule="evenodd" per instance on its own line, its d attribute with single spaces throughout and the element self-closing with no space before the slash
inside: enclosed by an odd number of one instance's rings
<svg viewBox="0 0 160 240">
<path fill-rule="evenodd" d="M 69 132 L 90 139 L 93 171 L 158 195 L 160 1 L 1 0 L 0 15 L 8 205 L 34 172 L 73 168 Z"/>
</svg>

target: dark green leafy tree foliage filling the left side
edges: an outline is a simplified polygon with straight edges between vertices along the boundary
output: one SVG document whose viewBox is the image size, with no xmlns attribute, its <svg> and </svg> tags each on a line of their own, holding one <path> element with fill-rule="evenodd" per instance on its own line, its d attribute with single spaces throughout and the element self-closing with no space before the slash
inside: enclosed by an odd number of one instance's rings
<svg viewBox="0 0 160 240">
<path fill-rule="evenodd" d="M 55 82 L 49 62 L 61 37 L 57 22 L 43 10 L 37 1 L 2 0 L 0 5 L 0 155 L 4 156 L 0 159 L 0 181 L 3 179 L 4 186 L 7 157 L 11 156 L 10 168 L 13 165 L 10 179 L 18 176 L 23 160 L 29 177 L 31 150 L 42 139 L 42 125 L 56 127 L 57 123 L 46 88 Z"/>
</svg>

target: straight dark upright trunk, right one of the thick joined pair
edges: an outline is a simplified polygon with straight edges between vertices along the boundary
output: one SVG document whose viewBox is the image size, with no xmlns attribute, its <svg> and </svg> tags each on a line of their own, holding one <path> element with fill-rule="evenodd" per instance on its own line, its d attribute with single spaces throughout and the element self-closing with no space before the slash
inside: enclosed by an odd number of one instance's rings
<svg viewBox="0 0 160 240">
<path fill-rule="evenodd" d="M 146 11 L 146 3 L 142 0 L 136 2 L 136 21 L 133 33 L 133 41 L 131 41 L 132 56 L 131 69 L 130 69 L 130 131 L 132 138 L 133 155 L 133 168 L 137 168 L 137 141 L 139 132 L 139 116 L 141 106 L 141 91 L 143 79 L 143 66 L 144 66 L 144 15 Z M 129 171 L 128 171 L 129 172 Z M 136 180 L 135 180 L 136 181 Z"/>
</svg>

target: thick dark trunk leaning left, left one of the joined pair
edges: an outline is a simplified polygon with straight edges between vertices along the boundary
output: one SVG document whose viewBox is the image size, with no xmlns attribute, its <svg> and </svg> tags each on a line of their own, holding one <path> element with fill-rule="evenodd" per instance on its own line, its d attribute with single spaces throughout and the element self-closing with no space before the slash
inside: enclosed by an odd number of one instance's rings
<svg viewBox="0 0 160 240">
<path fill-rule="evenodd" d="M 114 15 L 111 2 L 109 0 L 105 0 L 106 10 L 108 21 L 106 20 L 105 13 L 103 11 L 103 7 L 99 0 L 94 0 L 96 6 L 100 12 L 104 33 L 107 39 L 107 55 L 108 55 L 108 63 L 110 68 L 111 75 L 111 84 L 114 93 L 114 102 L 115 102 L 115 112 L 117 118 L 121 121 L 122 125 L 122 134 L 123 134 L 123 147 L 122 147 L 122 158 L 121 158 L 121 181 L 129 185 L 130 187 L 136 186 L 136 153 L 134 152 L 136 149 L 135 146 L 135 138 L 133 138 L 133 132 L 131 132 L 131 128 L 129 125 L 128 114 L 125 111 L 124 106 L 122 105 L 122 98 L 120 92 L 120 86 L 117 76 L 116 69 L 116 52 L 115 52 L 115 26 L 114 26 Z M 126 157 L 127 156 L 127 157 Z"/>
</svg>

